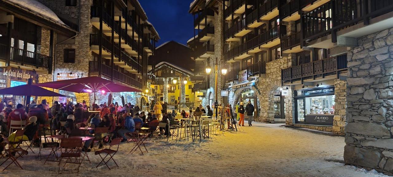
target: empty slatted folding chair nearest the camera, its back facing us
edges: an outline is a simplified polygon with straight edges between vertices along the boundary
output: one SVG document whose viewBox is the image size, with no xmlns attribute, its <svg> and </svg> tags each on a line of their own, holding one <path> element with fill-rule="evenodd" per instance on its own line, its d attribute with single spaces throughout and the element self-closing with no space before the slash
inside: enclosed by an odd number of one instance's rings
<svg viewBox="0 0 393 177">
<path fill-rule="evenodd" d="M 64 148 L 64 151 L 61 151 L 60 160 L 59 160 L 59 171 L 72 171 L 72 172 L 64 172 L 64 173 L 79 173 L 79 167 L 82 164 L 82 138 L 62 138 L 60 143 L 61 149 Z M 65 162 L 62 162 L 63 159 L 66 159 Z M 63 167 L 66 166 L 67 163 L 77 164 L 76 169 L 72 170 L 61 170 L 61 164 L 64 163 Z M 74 172 L 76 171 L 76 172 Z"/>
</svg>

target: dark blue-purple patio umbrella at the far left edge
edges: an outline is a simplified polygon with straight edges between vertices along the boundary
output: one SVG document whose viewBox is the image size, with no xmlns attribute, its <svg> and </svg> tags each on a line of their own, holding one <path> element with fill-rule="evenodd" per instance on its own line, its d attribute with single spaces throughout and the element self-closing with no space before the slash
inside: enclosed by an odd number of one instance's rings
<svg viewBox="0 0 393 177">
<path fill-rule="evenodd" d="M 18 96 L 60 96 L 66 97 L 62 94 L 46 90 L 37 85 L 18 85 L 6 89 L 0 89 L 0 94 L 18 95 Z"/>
</svg>

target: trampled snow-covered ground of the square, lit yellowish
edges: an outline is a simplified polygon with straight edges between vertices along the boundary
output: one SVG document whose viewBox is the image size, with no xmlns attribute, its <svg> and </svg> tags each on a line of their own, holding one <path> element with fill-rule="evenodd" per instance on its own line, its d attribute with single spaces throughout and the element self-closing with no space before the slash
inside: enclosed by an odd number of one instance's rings
<svg viewBox="0 0 393 177">
<path fill-rule="evenodd" d="M 247 124 L 247 123 L 246 123 Z M 233 176 L 233 177 L 385 177 L 382 173 L 345 166 L 344 138 L 279 127 L 282 124 L 253 123 L 240 132 L 224 132 L 203 142 L 149 140 L 149 153 L 128 154 L 132 143 L 121 144 L 115 155 L 120 168 L 110 163 L 95 168 L 99 156 L 89 153 L 79 176 Z M 34 149 L 38 151 L 37 148 Z M 56 176 L 57 163 L 35 159 L 30 154 L 0 172 L 0 176 Z M 0 160 L 2 162 L 2 160 Z M 2 168 L 0 167 L 0 170 Z M 59 175 L 74 176 L 74 175 Z M 76 175 L 75 175 L 76 176 Z"/>
</svg>

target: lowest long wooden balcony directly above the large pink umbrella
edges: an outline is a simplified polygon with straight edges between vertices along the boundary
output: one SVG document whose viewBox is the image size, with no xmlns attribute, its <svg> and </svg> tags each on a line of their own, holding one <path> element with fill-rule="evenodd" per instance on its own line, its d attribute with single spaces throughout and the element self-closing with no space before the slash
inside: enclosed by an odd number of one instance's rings
<svg viewBox="0 0 393 177">
<path fill-rule="evenodd" d="M 101 64 L 101 73 L 99 73 L 99 63 L 97 61 L 89 61 L 89 73 L 98 73 L 113 80 L 125 83 L 127 85 L 134 86 L 136 88 L 142 89 L 142 83 L 137 79 L 134 79 L 126 74 L 119 72 L 118 70 L 113 70 L 110 66 Z"/>
</svg>

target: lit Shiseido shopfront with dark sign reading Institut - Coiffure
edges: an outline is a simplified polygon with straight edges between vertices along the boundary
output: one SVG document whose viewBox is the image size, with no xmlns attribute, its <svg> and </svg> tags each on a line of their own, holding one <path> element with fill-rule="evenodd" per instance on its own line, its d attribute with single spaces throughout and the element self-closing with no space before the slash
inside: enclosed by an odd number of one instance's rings
<svg viewBox="0 0 393 177">
<path fill-rule="evenodd" d="M 333 125 L 334 87 L 296 92 L 296 123 Z"/>
</svg>

